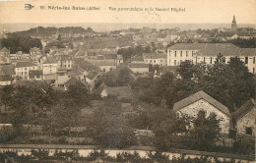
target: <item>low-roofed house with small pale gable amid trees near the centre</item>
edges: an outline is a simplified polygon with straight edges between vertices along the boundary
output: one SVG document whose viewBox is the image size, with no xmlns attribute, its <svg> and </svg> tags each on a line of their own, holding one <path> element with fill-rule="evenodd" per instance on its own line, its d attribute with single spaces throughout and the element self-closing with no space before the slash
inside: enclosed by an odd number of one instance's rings
<svg viewBox="0 0 256 163">
<path fill-rule="evenodd" d="M 101 97 L 115 96 L 118 101 L 130 103 L 133 100 L 133 92 L 129 86 L 109 87 L 101 83 L 97 89 L 96 94 Z"/>
</svg>

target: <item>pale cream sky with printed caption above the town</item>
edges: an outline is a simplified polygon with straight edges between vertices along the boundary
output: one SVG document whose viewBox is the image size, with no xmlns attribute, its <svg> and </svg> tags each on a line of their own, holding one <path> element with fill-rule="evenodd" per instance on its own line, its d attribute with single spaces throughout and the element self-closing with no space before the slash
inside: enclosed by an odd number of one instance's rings
<svg viewBox="0 0 256 163">
<path fill-rule="evenodd" d="M 32 10 L 25 10 L 25 4 L 32 4 L 34 7 Z M 48 10 L 49 6 L 64 6 L 70 10 Z M 99 10 L 72 10 L 72 6 L 96 7 Z M 110 7 L 116 10 L 109 10 Z M 135 7 L 143 11 L 118 11 L 118 8 Z M 146 11 L 150 8 L 153 10 Z M 167 11 L 156 11 L 156 8 Z M 181 8 L 185 11 L 174 12 L 171 8 Z M 230 24 L 233 15 L 237 24 L 256 24 L 256 0 L 0 1 L 0 24 Z"/>
</svg>

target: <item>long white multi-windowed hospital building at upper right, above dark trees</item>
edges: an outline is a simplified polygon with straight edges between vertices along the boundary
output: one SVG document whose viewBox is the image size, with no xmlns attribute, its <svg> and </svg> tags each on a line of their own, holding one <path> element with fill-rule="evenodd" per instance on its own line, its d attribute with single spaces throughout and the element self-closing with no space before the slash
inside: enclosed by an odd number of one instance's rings
<svg viewBox="0 0 256 163">
<path fill-rule="evenodd" d="M 215 64 L 219 54 L 226 63 L 231 57 L 239 57 L 251 73 L 256 73 L 256 49 L 239 48 L 231 43 L 177 43 L 167 49 L 167 66 L 179 66 L 185 60 L 193 64 Z"/>
</svg>

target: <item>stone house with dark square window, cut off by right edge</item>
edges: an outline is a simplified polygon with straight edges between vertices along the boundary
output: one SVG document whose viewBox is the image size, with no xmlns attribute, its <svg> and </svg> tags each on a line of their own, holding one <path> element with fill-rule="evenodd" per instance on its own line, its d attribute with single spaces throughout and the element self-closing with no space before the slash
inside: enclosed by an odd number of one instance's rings
<svg viewBox="0 0 256 163">
<path fill-rule="evenodd" d="M 234 126 L 238 136 L 256 134 L 256 101 L 249 99 L 233 113 Z"/>
</svg>

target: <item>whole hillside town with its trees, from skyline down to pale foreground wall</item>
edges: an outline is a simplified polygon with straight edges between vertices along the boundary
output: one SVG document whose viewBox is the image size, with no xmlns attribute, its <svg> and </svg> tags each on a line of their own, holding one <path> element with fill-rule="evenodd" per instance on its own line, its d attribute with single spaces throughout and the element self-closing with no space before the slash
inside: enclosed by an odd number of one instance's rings
<svg viewBox="0 0 256 163">
<path fill-rule="evenodd" d="M 0 141 L 255 159 L 255 37 L 235 16 L 229 28 L 2 32 Z"/>
</svg>

